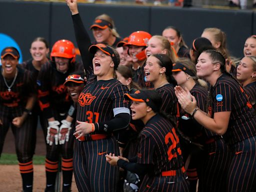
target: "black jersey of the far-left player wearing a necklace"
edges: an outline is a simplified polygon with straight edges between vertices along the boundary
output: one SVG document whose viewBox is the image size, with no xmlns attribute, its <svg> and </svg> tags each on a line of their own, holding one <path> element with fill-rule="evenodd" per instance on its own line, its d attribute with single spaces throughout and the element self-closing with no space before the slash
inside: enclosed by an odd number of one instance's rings
<svg viewBox="0 0 256 192">
<path fill-rule="evenodd" d="M 0 66 L 0 71 L 1 70 L 2 66 Z M 10 91 L 8 91 L 2 73 L 0 73 L 0 106 L 19 106 L 23 110 L 29 95 L 36 93 L 35 83 L 32 81 L 30 71 L 20 68 L 19 66 L 17 66 L 17 70 L 17 77 L 14 84 L 10 87 Z M 7 84 L 10 85 L 13 79 L 14 78 L 6 79 Z"/>
</svg>

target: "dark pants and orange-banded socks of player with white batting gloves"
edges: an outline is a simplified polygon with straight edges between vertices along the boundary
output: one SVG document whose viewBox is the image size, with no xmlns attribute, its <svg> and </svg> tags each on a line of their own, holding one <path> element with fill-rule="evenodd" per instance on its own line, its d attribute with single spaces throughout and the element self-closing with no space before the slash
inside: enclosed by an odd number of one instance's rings
<svg viewBox="0 0 256 192">
<path fill-rule="evenodd" d="M 53 110 L 55 120 L 59 122 L 65 119 L 65 114 L 60 115 L 56 110 Z M 60 122 L 61 123 L 61 122 Z M 43 127 L 44 136 L 46 139 L 48 120 L 44 118 L 45 127 Z M 59 125 L 60 126 L 60 125 Z M 62 191 L 69 191 L 72 182 L 73 174 L 73 131 L 75 129 L 74 123 L 71 124 L 72 129 L 69 131 L 69 139 L 64 144 L 52 145 L 46 144 L 46 159 L 45 159 L 45 172 L 46 172 L 46 188 L 45 191 L 54 191 L 56 175 L 58 171 L 58 161 L 61 156 L 61 170 L 62 170 Z"/>
</svg>

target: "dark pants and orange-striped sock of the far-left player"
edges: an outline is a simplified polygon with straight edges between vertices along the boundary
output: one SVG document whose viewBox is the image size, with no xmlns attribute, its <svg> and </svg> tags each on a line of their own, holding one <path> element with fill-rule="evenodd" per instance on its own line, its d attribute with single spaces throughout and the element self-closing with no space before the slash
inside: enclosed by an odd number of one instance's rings
<svg viewBox="0 0 256 192">
<path fill-rule="evenodd" d="M 21 116 L 23 111 L 21 107 L 0 107 L 0 154 L 2 152 L 6 133 L 11 127 L 14 135 L 15 149 L 19 164 L 19 170 L 22 177 L 23 190 L 32 191 L 33 185 L 33 164 L 32 157 L 35 147 L 35 118 L 33 115 L 28 115 L 20 127 L 12 124 L 12 119 L 16 116 Z M 36 119 L 37 120 L 37 119 Z"/>
</svg>

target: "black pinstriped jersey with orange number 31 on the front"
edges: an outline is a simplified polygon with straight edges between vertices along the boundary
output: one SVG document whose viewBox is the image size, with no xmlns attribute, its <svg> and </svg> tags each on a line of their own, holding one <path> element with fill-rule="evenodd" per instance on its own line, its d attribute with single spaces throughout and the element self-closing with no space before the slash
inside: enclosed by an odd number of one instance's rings
<svg viewBox="0 0 256 192">
<path fill-rule="evenodd" d="M 118 80 L 97 80 L 92 75 L 78 97 L 77 120 L 94 123 L 113 119 L 113 108 L 128 108 L 124 93 L 128 88 Z"/>
</svg>

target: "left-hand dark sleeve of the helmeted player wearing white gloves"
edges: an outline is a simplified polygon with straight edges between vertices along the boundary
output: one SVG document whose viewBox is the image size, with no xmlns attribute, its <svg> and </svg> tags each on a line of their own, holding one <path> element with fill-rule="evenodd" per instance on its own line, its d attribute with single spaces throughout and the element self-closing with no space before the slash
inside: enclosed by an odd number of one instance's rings
<svg viewBox="0 0 256 192">
<path fill-rule="evenodd" d="M 53 116 L 52 109 L 50 107 L 50 67 L 48 65 L 49 64 L 45 64 L 42 66 L 37 77 L 38 102 L 40 109 L 46 118 Z"/>
</svg>

